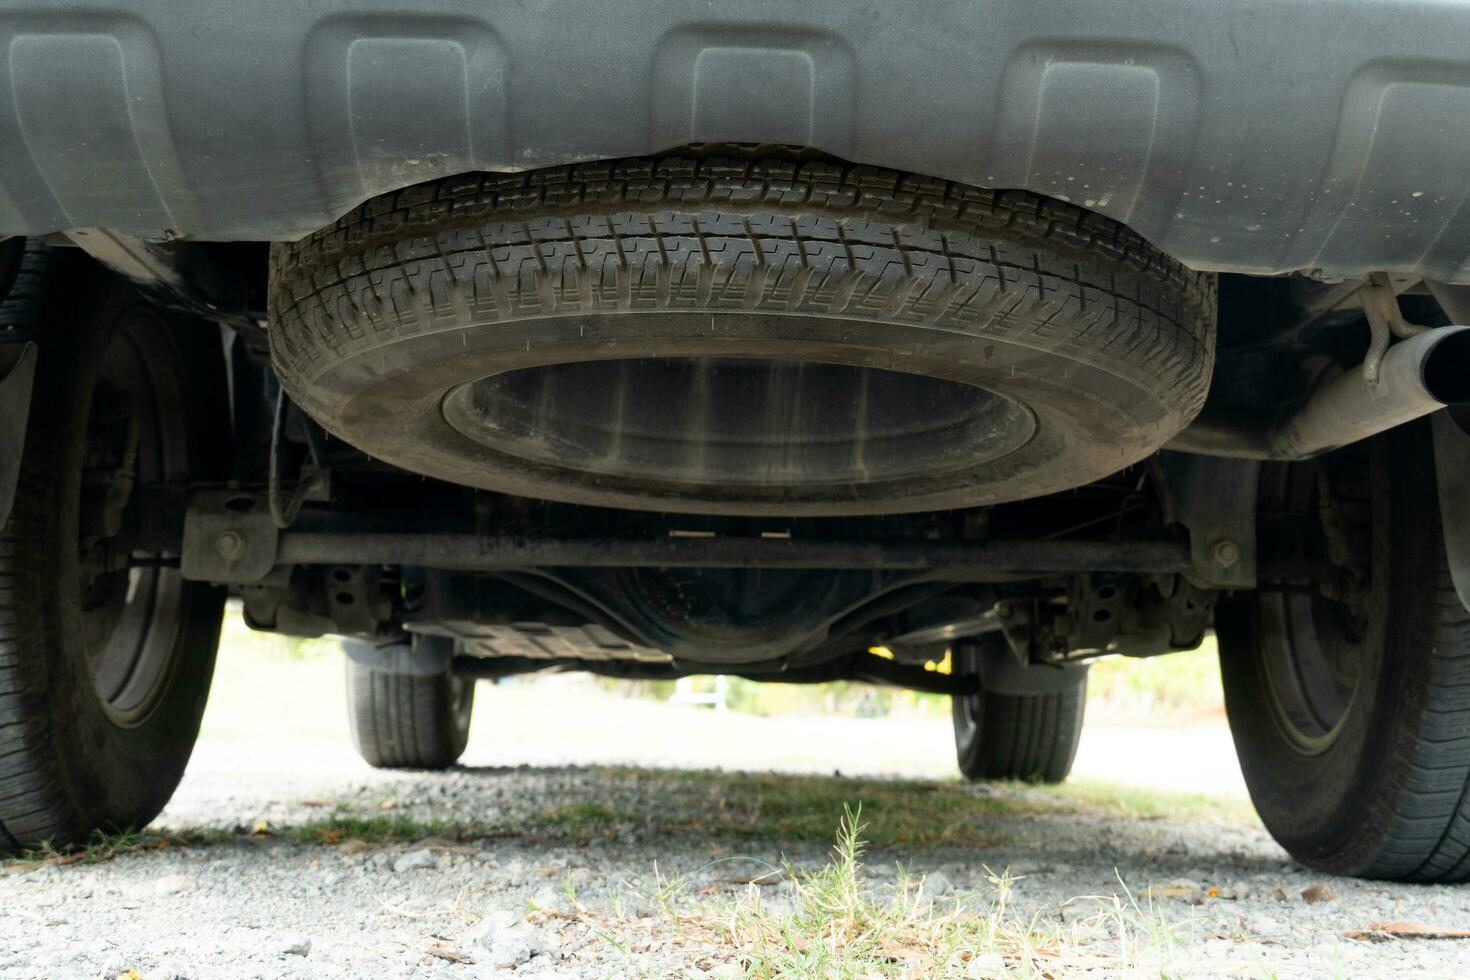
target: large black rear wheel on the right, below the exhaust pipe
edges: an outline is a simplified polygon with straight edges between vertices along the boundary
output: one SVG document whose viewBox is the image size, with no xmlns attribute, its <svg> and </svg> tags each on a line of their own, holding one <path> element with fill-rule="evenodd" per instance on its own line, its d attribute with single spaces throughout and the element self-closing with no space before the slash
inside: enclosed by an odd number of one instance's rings
<svg viewBox="0 0 1470 980">
<path fill-rule="evenodd" d="M 1470 614 L 1449 580 L 1429 425 L 1267 466 L 1261 505 L 1263 550 L 1302 539 L 1267 514 L 1333 514 L 1344 583 L 1332 598 L 1267 583 L 1217 610 L 1226 711 L 1261 821 L 1322 871 L 1470 879 Z M 1326 542 L 1313 530 L 1307 555 Z"/>
</svg>

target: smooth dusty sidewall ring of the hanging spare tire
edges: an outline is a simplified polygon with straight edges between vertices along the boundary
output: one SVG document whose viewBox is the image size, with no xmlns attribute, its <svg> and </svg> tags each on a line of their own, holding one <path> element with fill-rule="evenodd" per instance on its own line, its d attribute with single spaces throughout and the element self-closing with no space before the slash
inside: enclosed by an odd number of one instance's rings
<svg viewBox="0 0 1470 980">
<path fill-rule="evenodd" d="M 764 325 L 789 323 L 773 341 Z M 662 334 L 638 338 L 657 325 Z M 757 328 L 757 329 L 753 329 Z M 711 339 L 711 335 L 717 339 Z M 748 335 L 735 344 L 732 338 Z M 697 488 L 585 473 L 498 453 L 450 426 L 441 406 L 457 385 L 509 370 L 603 359 L 772 357 L 901 370 L 997 391 L 1035 422 L 1014 453 L 980 464 L 956 460 L 923 480 L 873 480 L 807 498 L 786 488 Z M 290 378 L 290 375 L 287 375 Z M 291 385 L 293 398 L 344 441 L 412 472 L 501 492 L 698 513 L 892 513 L 1033 497 L 1086 483 L 1136 463 L 1169 438 L 1176 407 L 1135 379 L 1066 351 L 1038 350 L 983 329 L 961 332 L 882 317 L 631 311 L 475 320 L 398 335 Z M 920 489 L 922 488 L 922 489 Z"/>
</svg>

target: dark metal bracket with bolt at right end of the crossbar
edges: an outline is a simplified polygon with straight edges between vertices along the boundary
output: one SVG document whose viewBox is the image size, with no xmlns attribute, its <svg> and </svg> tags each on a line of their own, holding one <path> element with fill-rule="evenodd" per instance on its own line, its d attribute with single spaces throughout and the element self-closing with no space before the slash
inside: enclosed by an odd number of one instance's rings
<svg viewBox="0 0 1470 980">
<path fill-rule="evenodd" d="M 1186 453 L 1160 453 L 1169 520 L 1189 532 L 1194 574 L 1202 588 L 1255 588 L 1255 491 L 1261 464 Z"/>
</svg>

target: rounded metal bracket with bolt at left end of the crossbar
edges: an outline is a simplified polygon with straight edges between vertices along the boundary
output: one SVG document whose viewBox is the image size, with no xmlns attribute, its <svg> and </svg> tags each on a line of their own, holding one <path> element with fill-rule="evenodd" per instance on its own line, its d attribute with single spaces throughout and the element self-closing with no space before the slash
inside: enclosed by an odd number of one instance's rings
<svg viewBox="0 0 1470 980">
<path fill-rule="evenodd" d="M 201 491 L 184 514 L 179 572 L 198 582 L 259 582 L 275 567 L 278 536 L 265 498 Z"/>
</svg>

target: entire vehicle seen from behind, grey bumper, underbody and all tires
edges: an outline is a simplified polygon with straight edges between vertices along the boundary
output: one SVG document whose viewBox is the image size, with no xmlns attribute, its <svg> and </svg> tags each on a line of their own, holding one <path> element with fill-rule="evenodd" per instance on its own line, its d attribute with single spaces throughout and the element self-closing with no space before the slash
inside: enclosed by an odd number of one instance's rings
<svg viewBox="0 0 1470 980">
<path fill-rule="evenodd" d="M 587 670 L 1058 780 L 1214 629 L 1292 855 L 1470 877 L 1470 7 L 263 6 L 0 10 L 0 846 L 159 813 L 238 597 L 409 767 Z"/>
</svg>

